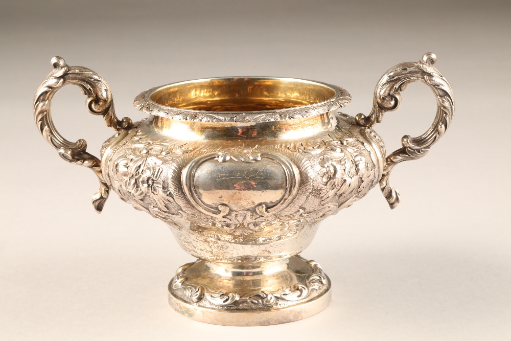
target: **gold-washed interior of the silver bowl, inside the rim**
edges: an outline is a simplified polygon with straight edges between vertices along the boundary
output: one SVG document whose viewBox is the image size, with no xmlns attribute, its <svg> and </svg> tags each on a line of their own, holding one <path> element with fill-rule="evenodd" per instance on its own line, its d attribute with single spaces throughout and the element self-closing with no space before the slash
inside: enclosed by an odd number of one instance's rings
<svg viewBox="0 0 511 341">
<path fill-rule="evenodd" d="M 320 103 L 335 89 L 292 78 L 238 77 L 200 79 L 156 89 L 150 99 L 160 105 L 206 111 L 263 111 Z"/>
</svg>

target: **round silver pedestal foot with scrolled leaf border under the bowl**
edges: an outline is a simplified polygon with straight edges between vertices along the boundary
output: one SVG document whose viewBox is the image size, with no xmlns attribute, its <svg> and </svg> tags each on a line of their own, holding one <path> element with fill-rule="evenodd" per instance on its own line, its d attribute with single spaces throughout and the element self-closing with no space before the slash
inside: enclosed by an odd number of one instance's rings
<svg viewBox="0 0 511 341">
<path fill-rule="evenodd" d="M 198 260 L 177 270 L 169 303 L 190 319 L 224 326 L 265 326 L 305 319 L 330 302 L 330 280 L 299 256 L 260 264 Z"/>
</svg>

